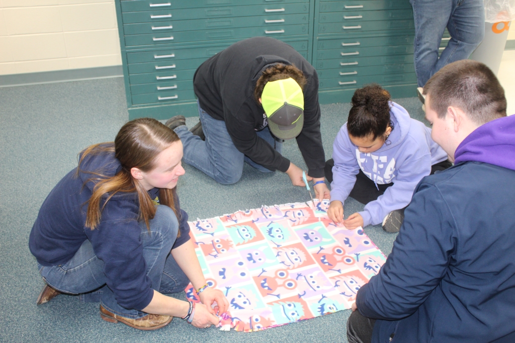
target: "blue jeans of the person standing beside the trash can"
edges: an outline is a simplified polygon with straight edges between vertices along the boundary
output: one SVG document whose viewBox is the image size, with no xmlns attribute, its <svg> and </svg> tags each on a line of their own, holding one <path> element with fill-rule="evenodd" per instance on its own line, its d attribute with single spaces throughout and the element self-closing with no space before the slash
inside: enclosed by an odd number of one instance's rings
<svg viewBox="0 0 515 343">
<path fill-rule="evenodd" d="M 468 59 L 485 35 L 483 0 L 410 0 L 415 20 L 414 60 L 419 87 L 443 66 Z M 451 40 L 438 58 L 445 27 Z"/>
</svg>

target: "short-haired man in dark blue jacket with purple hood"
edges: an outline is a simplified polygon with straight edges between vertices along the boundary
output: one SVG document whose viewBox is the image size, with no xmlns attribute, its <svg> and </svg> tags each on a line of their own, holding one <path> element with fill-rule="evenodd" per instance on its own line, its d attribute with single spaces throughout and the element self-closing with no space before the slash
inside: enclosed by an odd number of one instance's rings
<svg viewBox="0 0 515 343">
<path fill-rule="evenodd" d="M 349 342 L 515 342 L 515 116 L 476 61 L 443 67 L 424 93 L 454 166 L 416 187 L 386 263 L 357 293 Z"/>
</svg>

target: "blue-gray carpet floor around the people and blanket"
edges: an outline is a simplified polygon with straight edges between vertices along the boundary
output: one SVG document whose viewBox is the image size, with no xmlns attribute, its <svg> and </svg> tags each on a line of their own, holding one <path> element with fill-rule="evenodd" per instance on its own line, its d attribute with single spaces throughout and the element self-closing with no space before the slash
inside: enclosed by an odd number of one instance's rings
<svg viewBox="0 0 515 343">
<path fill-rule="evenodd" d="M 416 98 L 395 101 L 411 117 L 423 120 Z M 328 159 L 350 105 L 329 104 L 321 109 Z M 122 78 L 0 88 L 0 341 L 347 342 L 350 310 L 254 333 L 222 332 L 214 327 L 201 330 L 179 319 L 161 330 L 143 332 L 101 320 L 98 304 L 81 304 L 76 296 L 60 295 L 36 306 L 43 280 L 28 249 L 28 236 L 39 207 L 59 179 L 76 167 L 79 151 L 114 140 L 127 120 Z M 198 117 L 188 118 L 188 127 L 197 121 Z M 295 140 L 285 142 L 284 155 L 305 168 Z M 182 208 L 192 219 L 263 204 L 304 202 L 309 197 L 304 188 L 291 186 L 288 176 L 280 172 L 265 174 L 245 165 L 242 179 L 224 186 L 184 167 L 186 174 L 180 179 L 178 193 Z M 363 205 L 352 198 L 345 203 L 346 216 L 361 209 Z M 365 232 L 386 255 L 390 253 L 396 234 L 386 233 L 380 226 L 368 226 Z"/>
</svg>

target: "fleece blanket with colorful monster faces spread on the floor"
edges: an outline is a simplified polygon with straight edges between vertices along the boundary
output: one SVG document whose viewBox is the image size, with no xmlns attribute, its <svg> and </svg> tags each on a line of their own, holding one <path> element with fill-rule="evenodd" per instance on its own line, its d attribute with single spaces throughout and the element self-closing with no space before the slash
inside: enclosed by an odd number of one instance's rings
<svg viewBox="0 0 515 343">
<path fill-rule="evenodd" d="M 188 222 L 208 284 L 229 300 L 220 330 L 258 331 L 350 309 L 384 254 L 363 228 L 327 216 L 329 201 L 238 211 Z M 193 286 L 186 297 L 200 301 Z"/>
</svg>

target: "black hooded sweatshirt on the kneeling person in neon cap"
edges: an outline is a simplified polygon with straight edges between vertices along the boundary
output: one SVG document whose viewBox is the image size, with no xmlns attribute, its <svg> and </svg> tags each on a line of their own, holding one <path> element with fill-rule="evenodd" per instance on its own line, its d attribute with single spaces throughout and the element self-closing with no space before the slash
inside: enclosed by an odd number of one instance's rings
<svg viewBox="0 0 515 343">
<path fill-rule="evenodd" d="M 268 37 L 249 38 L 202 63 L 193 77 L 200 107 L 214 119 L 225 121 L 238 151 L 269 170 L 286 172 L 290 161 L 256 134 L 267 125 L 263 106 L 254 99 L 256 81 L 263 70 L 278 63 L 294 65 L 306 77 L 304 127 L 297 136 L 297 144 L 308 175 L 323 177 L 325 155 L 320 134 L 317 72 L 288 44 Z"/>
</svg>

